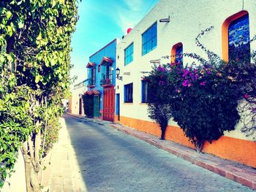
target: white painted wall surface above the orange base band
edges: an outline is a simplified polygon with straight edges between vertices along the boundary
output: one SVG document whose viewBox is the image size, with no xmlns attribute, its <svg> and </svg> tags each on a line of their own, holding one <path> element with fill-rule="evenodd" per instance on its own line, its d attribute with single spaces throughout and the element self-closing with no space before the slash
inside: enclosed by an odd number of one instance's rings
<svg viewBox="0 0 256 192">
<path fill-rule="evenodd" d="M 150 12 L 127 34 L 117 46 L 117 67 L 121 70 L 123 81 L 116 81 L 116 93 L 120 93 L 120 115 L 141 120 L 150 120 L 147 115 L 147 106 L 140 104 L 142 71 L 150 71 L 150 60 L 161 59 L 162 64 L 170 63 L 170 59 L 162 56 L 170 55 L 173 45 L 182 42 L 184 53 L 206 55 L 195 45 L 195 37 L 201 30 L 214 26 L 214 29 L 205 34 L 201 42 L 222 56 L 222 23 L 226 18 L 240 12 L 242 0 L 160 0 Z M 244 9 L 249 12 L 250 37 L 256 34 L 256 1 L 244 0 Z M 159 23 L 159 19 L 168 18 L 170 23 Z M 142 56 L 142 37 L 146 29 L 157 21 L 157 48 Z M 124 66 L 124 49 L 134 42 L 134 60 Z M 252 42 L 251 50 L 255 50 L 256 42 Z M 191 63 L 191 59 L 184 58 L 184 64 Z M 130 75 L 124 75 L 130 72 Z M 133 104 L 124 104 L 124 85 L 133 82 Z M 175 122 L 170 122 L 176 125 Z M 239 130 L 226 135 L 241 139 L 248 139 Z"/>
</svg>

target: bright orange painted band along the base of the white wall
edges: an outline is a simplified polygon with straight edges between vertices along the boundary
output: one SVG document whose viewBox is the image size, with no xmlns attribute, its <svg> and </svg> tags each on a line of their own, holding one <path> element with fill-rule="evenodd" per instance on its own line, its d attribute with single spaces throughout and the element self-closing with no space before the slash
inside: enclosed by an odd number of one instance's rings
<svg viewBox="0 0 256 192">
<path fill-rule="evenodd" d="M 122 116 L 120 117 L 120 123 L 158 137 L 161 135 L 157 123 Z M 182 129 L 177 126 L 167 127 L 165 139 L 195 149 L 189 139 L 184 136 Z M 203 152 L 256 168 L 256 142 L 222 136 L 211 144 L 206 142 L 203 146 Z"/>
</svg>

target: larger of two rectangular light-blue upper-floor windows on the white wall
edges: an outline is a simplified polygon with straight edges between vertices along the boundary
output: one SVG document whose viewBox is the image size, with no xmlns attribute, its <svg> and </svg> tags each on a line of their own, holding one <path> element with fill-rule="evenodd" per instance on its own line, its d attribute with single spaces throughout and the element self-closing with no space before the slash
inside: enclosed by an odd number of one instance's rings
<svg viewBox="0 0 256 192">
<path fill-rule="evenodd" d="M 157 23 L 142 34 L 142 55 L 157 47 Z"/>
</svg>

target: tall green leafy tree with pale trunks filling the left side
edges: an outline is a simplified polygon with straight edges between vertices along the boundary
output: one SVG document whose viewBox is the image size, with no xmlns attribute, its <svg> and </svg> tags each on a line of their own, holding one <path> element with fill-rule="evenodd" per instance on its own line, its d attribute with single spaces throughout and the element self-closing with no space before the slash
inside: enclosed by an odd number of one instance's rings
<svg viewBox="0 0 256 192">
<path fill-rule="evenodd" d="M 1 80 L 0 114 L 4 115 L 1 137 L 10 135 L 14 123 L 13 128 L 20 130 L 15 131 L 8 142 L 8 146 L 15 146 L 10 149 L 12 153 L 6 149 L 1 153 L 6 156 L 0 158 L 1 185 L 15 163 L 14 154 L 22 142 L 27 140 L 23 144 L 23 155 L 31 159 L 31 167 L 38 174 L 39 151 L 41 156 L 46 155 L 57 139 L 61 99 L 69 88 L 70 41 L 77 14 L 75 0 L 0 2 L 0 72 L 2 77 L 7 72 L 13 77 L 13 81 L 10 78 Z M 12 84 L 12 89 L 8 88 L 8 83 Z M 28 191 L 38 189 L 34 184 L 27 183 Z"/>
</svg>

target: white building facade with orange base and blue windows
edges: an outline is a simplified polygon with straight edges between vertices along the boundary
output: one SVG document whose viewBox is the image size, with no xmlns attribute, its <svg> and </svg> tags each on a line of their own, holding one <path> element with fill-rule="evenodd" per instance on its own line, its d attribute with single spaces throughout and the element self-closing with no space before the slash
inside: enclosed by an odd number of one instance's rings
<svg viewBox="0 0 256 192">
<path fill-rule="evenodd" d="M 144 73 L 151 71 L 153 64 L 191 64 L 192 58 L 183 57 L 182 53 L 197 53 L 206 58 L 203 50 L 195 45 L 195 38 L 210 26 L 214 28 L 200 39 L 208 50 L 225 61 L 231 57 L 246 58 L 256 48 L 255 42 L 249 43 L 256 34 L 255 23 L 254 0 L 160 0 L 118 43 L 116 67 L 122 80 L 116 82 L 116 120 L 160 136 L 160 128 L 148 118 Z M 193 147 L 173 120 L 165 138 Z M 203 151 L 256 167 L 256 142 L 242 134 L 239 125 L 212 144 L 206 143 Z"/>
</svg>

